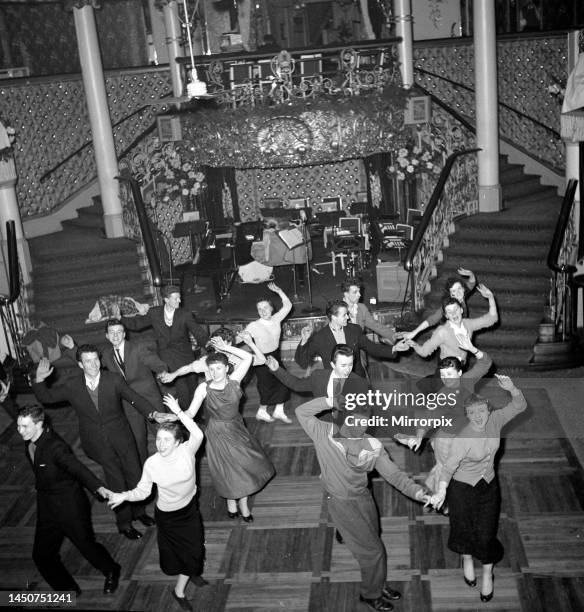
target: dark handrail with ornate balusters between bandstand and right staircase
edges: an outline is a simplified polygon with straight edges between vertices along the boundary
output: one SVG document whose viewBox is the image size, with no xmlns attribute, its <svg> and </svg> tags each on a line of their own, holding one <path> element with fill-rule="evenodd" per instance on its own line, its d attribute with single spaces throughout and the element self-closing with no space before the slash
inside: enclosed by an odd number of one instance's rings
<svg viewBox="0 0 584 612">
<path fill-rule="evenodd" d="M 440 237 L 437 235 L 438 232 L 432 232 L 432 236 L 430 237 L 428 229 L 430 228 L 431 222 L 434 220 L 435 212 L 441 210 L 440 203 L 442 202 L 442 196 L 444 194 L 444 187 L 446 185 L 446 181 L 450 177 L 450 173 L 452 171 L 452 166 L 454 165 L 454 162 L 459 157 L 463 155 L 469 155 L 471 153 L 476 153 L 480 150 L 481 150 L 480 148 L 463 149 L 461 151 L 455 151 L 454 153 L 451 153 L 448 156 L 448 158 L 446 159 L 446 163 L 444 164 L 444 167 L 442 168 L 440 172 L 440 176 L 438 177 L 436 186 L 434 187 L 434 190 L 432 191 L 432 195 L 430 196 L 430 201 L 428 202 L 428 205 L 426 206 L 426 209 L 424 210 L 424 214 L 422 215 L 420 223 L 418 224 L 418 227 L 416 228 L 416 231 L 414 233 L 412 244 L 410 245 L 410 248 L 408 249 L 408 252 L 406 255 L 406 259 L 404 262 L 404 268 L 407 272 L 409 272 L 410 291 L 411 291 L 412 302 L 413 302 L 412 305 L 413 305 L 413 309 L 416 311 L 420 310 L 422 307 L 422 299 L 418 295 L 420 291 L 417 291 L 417 288 L 416 288 L 416 285 L 420 283 L 421 276 L 422 276 L 420 274 L 420 271 L 422 270 L 421 265 L 418 265 L 419 269 L 416 271 L 416 263 L 418 264 L 420 263 L 421 246 L 426 241 L 430 243 L 432 242 L 432 240 L 434 240 L 434 243 L 435 243 L 434 247 L 430 249 L 429 256 L 427 257 L 428 261 L 425 262 L 426 264 L 430 263 L 431 266 L 435 264 L 436 257 L 437 257 L 437 250 L 442 247 L 442 241 L 440 240 Z M 444 226 L 449 226 L 451 224 L 451 221 L 452 220 L 448 218 L 447 215 L 445 215 L 445 218 L 441 222 L 440 227 L 443 228 L 443 231 L 440 232 L 440 234 L 444 234 L 444 238 L 446 238 L 445 232 L 447 232 L 447 228 L 444 228 Z M 438 244 L 438 242 L 440 242 L 440 244 Z M 425 269 L 427 270 L 428 268 L 426 267 Z"/>
</svg>

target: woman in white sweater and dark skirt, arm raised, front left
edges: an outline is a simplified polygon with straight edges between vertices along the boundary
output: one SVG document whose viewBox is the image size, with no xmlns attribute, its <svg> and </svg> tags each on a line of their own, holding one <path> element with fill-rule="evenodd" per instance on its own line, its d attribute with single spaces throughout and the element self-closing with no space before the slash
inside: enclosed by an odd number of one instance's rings
<svg viewBox="0 0 584 612">
<path fill-rule="evenodd" d="M 108 503 L 115 508 L 126 501 L 146 499 L 156 483 L 160 569 L 169 576 L 177 576 L 172 594 L 183 610 L 192 610 L 185 597 L 189 579 L 196 586 L 207 584 L 202 577 L 205 547 L 195 473 L 195 454 L 203 441 L 203 432 L 180 409 L 174 397 L 166 395 L 164 403 L 187 428 L 189 439 L 184 441 L 178 423 L 159 425 L 156 434 L 158 452 L 144 463 L 140 482 L 131 491 L 111 493 Z"/>
</svg>

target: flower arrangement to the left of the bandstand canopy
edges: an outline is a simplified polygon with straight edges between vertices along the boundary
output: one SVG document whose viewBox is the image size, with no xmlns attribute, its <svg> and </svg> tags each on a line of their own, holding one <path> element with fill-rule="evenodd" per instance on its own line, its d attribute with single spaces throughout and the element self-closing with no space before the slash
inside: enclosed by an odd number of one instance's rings
<svg viewBox="0 0 584 612">
<path fill-rule="evenodd" d="M 156 146 L 150 154 L 142 182 L 154 180 L 163 202 L 197 196 L 207 187 L 205 174 L 192 162 L 183 162 L 172 144 Z"/>
</svg>

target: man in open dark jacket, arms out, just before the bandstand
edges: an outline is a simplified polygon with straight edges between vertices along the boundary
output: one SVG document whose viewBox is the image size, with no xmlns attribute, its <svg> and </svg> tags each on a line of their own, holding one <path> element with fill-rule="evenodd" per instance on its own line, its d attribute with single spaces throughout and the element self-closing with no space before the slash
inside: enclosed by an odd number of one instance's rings
<svg viewBox="0 0 584 612">
<path fill-rule="evenodd" d="M 316 357 L 320 357 L 323 363 L 328 363 L 332 350 L 336 344 L 347 344 L 353 350 L 353 370 L 359 376 L 366 376 L 365 369 L 359 359 L 359 351 L 363 350 L 373 357 L 381 359 L 397 359 L 397 352 L 407 351 L 408 346 L 399 342 L 394 346 L 376 344 L 367 339 L 363 330 L 353 323 L 349 323 L 348 306 L 342 300 L 335 300 L 327 304 L 326 316 L 328 325 L 316 333 L 310 335 L 310 328 L 302 330 L 302 339 L 296 347 L 294 360 L 301 368 L 307 368 Z"/>
</svg>

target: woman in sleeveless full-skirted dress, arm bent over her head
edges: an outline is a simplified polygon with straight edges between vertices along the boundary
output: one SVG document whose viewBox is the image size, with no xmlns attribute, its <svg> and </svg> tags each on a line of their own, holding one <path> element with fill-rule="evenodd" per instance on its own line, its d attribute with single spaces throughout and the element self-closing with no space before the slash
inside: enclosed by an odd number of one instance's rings
<svg viewBox="0 0 584 612">
<path fill-rule="evenodd" d="M 241 516 L 250 523 L 253 516 L 247 498 L 262 489 L 275 472 L 239 412 L 240 383 L 253 357 L 247 351 L 226 344 L 221 338 L 213 338 L 212 343 L 217 352 L 207 356 L 211 379 L 197 387 L 186 414 L 194 418 L 205 402 L 206 453 L 213 485 L 227 500 L 229 517 Z M 228 354 L 240 359 L 231 374 Z"/>
</svg>

